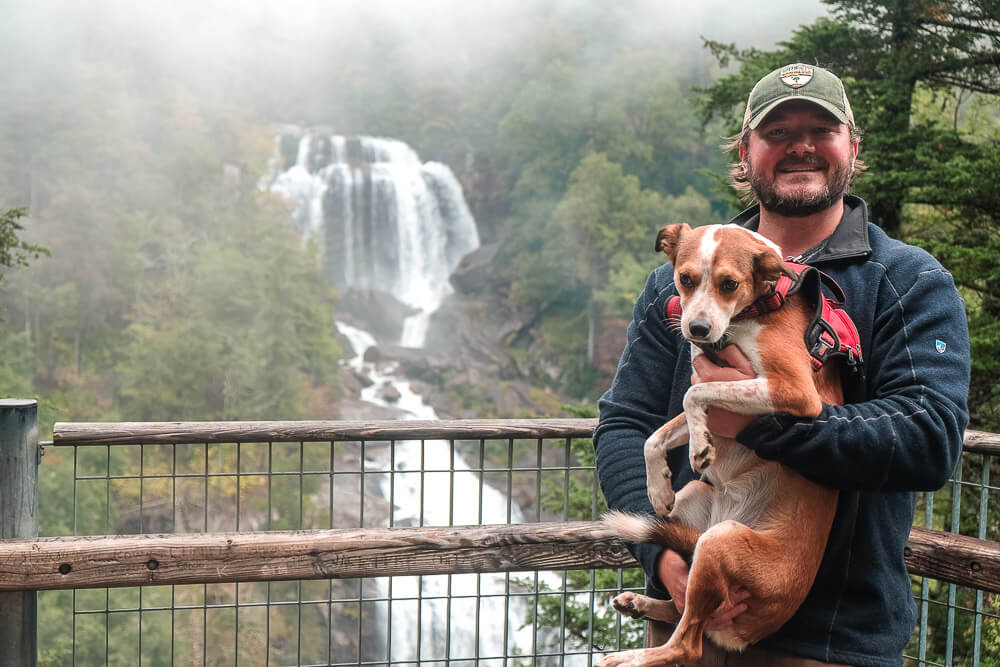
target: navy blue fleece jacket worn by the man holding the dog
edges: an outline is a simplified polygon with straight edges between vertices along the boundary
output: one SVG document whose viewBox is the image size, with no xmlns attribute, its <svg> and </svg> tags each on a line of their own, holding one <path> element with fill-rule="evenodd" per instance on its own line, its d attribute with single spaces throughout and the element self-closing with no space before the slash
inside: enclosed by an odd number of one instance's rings
<svg viewBox="0 0 1000 667">
<path fill-rule="evenodd" d="M 733 222 L 756 229 L 756 207 Z M 937 489 L 955 467 L 968 422 L 969 337 L 951 275 L 929 254 L 868 222 L 845 198 L 837 230 L 802 256 L 840 283 L 861 334 L 864 381 L 845 383 L 847 405 L 817 419 L 761 417 L 737 439 L 821 484 L 840 489 L 830 540 L 813 588 L 795 616 L 761 646 L 851 665 L 900 665 L 916 621 L 903 562 L 917 491 Z M 594 435 L 601 488 L 613 508 L 652 512 L 643 443 L 683 411 L 689 345 L 666 324 L 673 268 L 650 275 L 639 295 Z M 668 456 L 675 488 L 695 478 L 687 448 Z M 649 592 L 661 549 L 633 546 Z"/>
</svg>

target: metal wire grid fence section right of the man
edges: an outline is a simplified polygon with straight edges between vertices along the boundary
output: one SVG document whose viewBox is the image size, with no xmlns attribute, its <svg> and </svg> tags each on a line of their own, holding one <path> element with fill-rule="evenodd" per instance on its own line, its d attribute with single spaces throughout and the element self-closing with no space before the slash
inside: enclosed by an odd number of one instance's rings
<svg viewBox="0 0 1000 667">
<path fill-rule="evenodd" d="M 990 455 L 965 453 L 943 489 L 923 494 L 916 522 L 1000 540 L 1000 487 L 991 481 L 1000 478 L 998 468 Z M 1000 665 L 1000 596 L 924 577 L 912 580 L 919 619 L 904 653 L 908 664 Z"/>
</svg>

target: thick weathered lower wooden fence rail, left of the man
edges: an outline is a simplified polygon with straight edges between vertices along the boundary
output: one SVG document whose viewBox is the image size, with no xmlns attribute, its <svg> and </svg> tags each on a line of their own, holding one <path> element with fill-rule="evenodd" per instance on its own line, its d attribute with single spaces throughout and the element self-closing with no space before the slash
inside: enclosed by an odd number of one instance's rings
<svg viewBox="0 0 1000 667">
<path fill-rule="evenodd" d="M 631 567 L 600 522 L 0 543 L 0 591 Z"/>
</svg>

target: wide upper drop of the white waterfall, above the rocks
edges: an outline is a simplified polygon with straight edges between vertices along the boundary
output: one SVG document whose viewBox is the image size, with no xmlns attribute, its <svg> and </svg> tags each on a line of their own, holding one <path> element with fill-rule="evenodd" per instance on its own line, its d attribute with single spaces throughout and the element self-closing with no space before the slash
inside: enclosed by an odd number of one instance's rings
<svg viewBox="0 0 1000 667">
<path fill-rule="evenodd" d="M 287 138 L 278 142 L 291 152 Z M 430 315 L 451 291 L 448 277 L 479 246 L 451 169 L 421 163 L 395 139 L 306 133 L 270 189 L 297 204 L 293 224 L 319 244 L 334 286 L 381 290 L 418 309 L 400 343 L 423 347 Z"/>
</svg>

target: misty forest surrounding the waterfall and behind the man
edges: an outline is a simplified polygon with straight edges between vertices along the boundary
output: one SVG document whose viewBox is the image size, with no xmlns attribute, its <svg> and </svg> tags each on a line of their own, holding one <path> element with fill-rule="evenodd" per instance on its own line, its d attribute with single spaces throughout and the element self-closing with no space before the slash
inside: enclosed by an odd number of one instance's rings
<svg viewBox="0 0 1000 667">
<path fill-rule="evenodd" d="M 236 27 L 193 1 L 86 4 L 18 3 L 0 27 L 0 391 L 39 400 L 43 439 L 56 421 L 336 414 L 341 294 L 289 203 L 258 186 L 278 123 L 449 165 L 510 276 L 499 296 L 531 313 L 503 353 L 549 398 L 516 416 L 593 414 L 662 261 L 656 230 L 745 205 L 720 145 L 753 83 L 796 61 L 844 79 L 873 221 L 954 275 L 971 426 L 1000 430 L 995 0 L 789 3 L 756 20 L 710 4 L 690 22 L 642 0 L 432 3 L 405 20 L 319 3 Z M 69 530 L 57 516 L 43 507 Z"/>
</svg>

